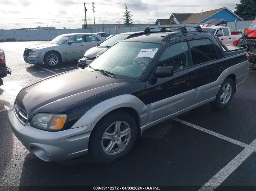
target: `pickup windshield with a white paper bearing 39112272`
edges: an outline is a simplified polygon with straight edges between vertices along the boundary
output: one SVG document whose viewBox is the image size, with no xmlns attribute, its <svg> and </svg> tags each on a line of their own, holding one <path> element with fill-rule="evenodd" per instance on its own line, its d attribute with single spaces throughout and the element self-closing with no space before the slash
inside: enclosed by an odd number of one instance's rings
<svg viewBox="0 0 256 191">
<path fill-rule="evenodd" d="M 148 67 L 160 44 L 142 42 L 120 42 L 95 59 L 87 70 L 111 72 L 115 77 L 137 80 Z"/>
</svg>

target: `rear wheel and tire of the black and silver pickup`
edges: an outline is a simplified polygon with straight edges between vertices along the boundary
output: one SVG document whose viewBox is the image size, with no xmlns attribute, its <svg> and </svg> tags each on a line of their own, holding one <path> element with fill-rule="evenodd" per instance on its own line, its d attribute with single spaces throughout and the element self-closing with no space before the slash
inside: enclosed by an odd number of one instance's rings
<svg viewBox="0 0 256 191">
<path fill-rule="evenodd" d="M 210 102 L 212 107 L 224 109 L 228 107 L 234 95 L 234 81 L 231 78 L 226 78 L 221 84 L 221 88 L 216 95 L 216 99 Z"/>
</svg>

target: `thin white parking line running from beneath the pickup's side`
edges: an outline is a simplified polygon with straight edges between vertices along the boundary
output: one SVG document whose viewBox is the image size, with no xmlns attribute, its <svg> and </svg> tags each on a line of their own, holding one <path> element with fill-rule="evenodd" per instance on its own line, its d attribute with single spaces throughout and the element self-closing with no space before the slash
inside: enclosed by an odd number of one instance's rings
<svg viewBox="0 0 256 191">
<path fill-rule="evenodd" d="M 176 118 L 176 117 L 175 117 L 173 120 L 178 121 L 178 122 L 180 122 L 180 123 L 183 123 L 183 124 L 185 124 L 185 125 L 191 126 L 191 127 L 195 128 L 195 129 L 198 129 L 198 130 L 200 130 L 200 131 L 206 132 L 206 133 L 208 133 L 208 134 L 214 135 L 215 137 L 224 139 L 224 140 L 226 140 L 226 141 L 228 141 L 228 142 L 234 143 L 234 144 L 239 145 L 239 146 L 241 146 L 241 147 L 244 147 L 244 148 L 245 148 L 245 147 L 248 146 L 248 145 L 245 144 L 245 143 L 242 143 L 242 142 L 240 142 L 240 141 L 237 141 L 237 140 L 234 140 L 234 139 L 232 139 L 232 138 L 226 137 L 226 136 L 224 136 L 224 135 L 221 135 L 221 134 L 219 134 L 219 133 L 213 132 L 213 131 L 211 131 L 211 130 L 204 129 L 203 127 L 194 125 L 194 124 L 192 124 L 192 123 L 188 123 L 188 122 L 186 122 L 186 121 L 184 121 L 184 120 L 181 120 L 181 119 L 178 119 L 178 118 Z"/>
</svg>

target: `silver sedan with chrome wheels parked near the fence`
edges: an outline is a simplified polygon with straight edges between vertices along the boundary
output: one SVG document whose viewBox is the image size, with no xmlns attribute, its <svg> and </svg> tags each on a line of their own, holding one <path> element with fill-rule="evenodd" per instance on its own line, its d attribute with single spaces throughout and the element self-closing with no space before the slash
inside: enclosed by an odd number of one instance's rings
<svg viewBox="0 0 256 191">
<path fill-rule="evenodd" d="M 62 34 L 48 44 L 25 48 L 23 58 L 29 64 L 45 63 L 48 67 L 55 67 L 60 62 L 81 59 L 88 49 L 104 40 L 97 34 L 91 33 Z"/>
</svg>

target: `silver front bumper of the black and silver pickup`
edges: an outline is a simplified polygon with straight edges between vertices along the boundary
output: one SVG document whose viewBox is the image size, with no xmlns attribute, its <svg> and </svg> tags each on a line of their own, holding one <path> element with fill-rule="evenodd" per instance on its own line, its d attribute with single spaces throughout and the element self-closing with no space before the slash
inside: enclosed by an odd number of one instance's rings
<svg viewBox="0 0 256 191">
<path fill-rule="evenodd" d="M 11 129 L 22 144 L 43 161 L 63 161 L 87 154 L 91 130 L 89 125 L 58 132 L 49 132 L 22 125 L 15 116 L 13 105 L 8 111 Z"/>
</svg>

